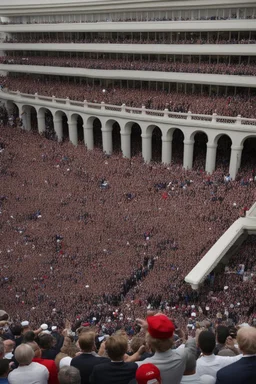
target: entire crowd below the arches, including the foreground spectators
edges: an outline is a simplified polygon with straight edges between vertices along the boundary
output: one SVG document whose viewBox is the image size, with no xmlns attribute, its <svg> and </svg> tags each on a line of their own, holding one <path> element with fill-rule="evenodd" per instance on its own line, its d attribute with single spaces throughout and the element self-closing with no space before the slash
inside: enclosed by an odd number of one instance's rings
<svg viewBox="0 0 256 384">
<path fill-rule="evenodd" d="M 15 111 L 8 116 L 2 106 L 0 113 L 5 383 L 30 384 L 36 377 L 40 384 L 89 384 L 90 377 L 94 384 L 144 384 L 147 378 L 179 384 L 188 375 L 198 384 L 225 384 L 231 373 L 224 367 L 238 364 L 241 353 L 253 359 L 256 236 L 199 291 L 184 283 L 254 203 L 253 157 L 230 180 L 225 162 L 209 176 L 199 167 L 185 171 L 180 153 L 168 167 L 143 164 L 139 155 L 109 157 L 25 132 Z M 154 310 L 162 315 L 136 320 Z M 244 333 L 247 343 L 239 338 Z M 221 357 L 221 350 L 235 357 Z M 237 383 L 254 383 L 255 369 L 239 372 Z"/>
</svg>

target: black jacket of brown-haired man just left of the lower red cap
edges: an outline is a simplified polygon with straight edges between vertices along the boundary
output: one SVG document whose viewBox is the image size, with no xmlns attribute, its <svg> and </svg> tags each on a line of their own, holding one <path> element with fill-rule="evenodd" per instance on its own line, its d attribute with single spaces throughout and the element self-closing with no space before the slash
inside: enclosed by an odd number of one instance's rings
<svg viewBox="0 0 256 384">
<path fill-rule="evenodd" d="M 135 378 L 138 366 L 135 363 L 106 363 L 93 368 L 91 384 L 128 384 Z"/>
</svg>

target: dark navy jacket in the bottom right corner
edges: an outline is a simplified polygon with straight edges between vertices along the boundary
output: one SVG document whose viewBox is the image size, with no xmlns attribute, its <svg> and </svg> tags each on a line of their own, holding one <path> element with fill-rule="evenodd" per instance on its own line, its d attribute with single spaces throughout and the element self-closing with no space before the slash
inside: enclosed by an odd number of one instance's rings
<svg viewBox="0 0 256 384">
<path fill-rule="evenodd" d="M 217 372 L 216 384 L 255 384 L 256 356 L 242 357 Z"/>
</svg>

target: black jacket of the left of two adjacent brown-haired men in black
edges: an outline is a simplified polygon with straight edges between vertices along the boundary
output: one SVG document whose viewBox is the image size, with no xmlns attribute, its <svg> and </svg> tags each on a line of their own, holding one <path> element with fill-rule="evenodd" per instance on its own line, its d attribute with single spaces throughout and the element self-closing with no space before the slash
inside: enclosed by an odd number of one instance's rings
<svg viewBox="0 0 256 384">
<path fill-rule="evenodd" d="M 90 384 L 89 378 L 95 365 L 109 362 L 106 357 L 97 357 L 91 353 L 82 353 L 79 356 L 74 357 L 71 360 L 73 367 L 76 367 L 80 371 L 81 384 Z"/>
</svg>

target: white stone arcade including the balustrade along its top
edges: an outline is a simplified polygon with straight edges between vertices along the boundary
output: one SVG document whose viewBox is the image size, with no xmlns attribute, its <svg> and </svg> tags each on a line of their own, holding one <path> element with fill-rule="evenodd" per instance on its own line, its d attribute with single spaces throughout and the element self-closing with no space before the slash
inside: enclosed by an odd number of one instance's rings
<svg viewBox="0 0 256 384">
<path fill-rule="evenodd" d="M 234 179 L 241 164 L 243 145 L 247 138 L 256 137 L 256 120 L 225 118 L 217 115 L 194 115 L 189 113 L 172 113 L 165 111 L 146 110 L 122 106 L 73 102 L 69 99 L 57 99 L 35 95 L 26 95 L 19 92 L 0 93 L 0 99 L 7 108 L 13 103 L 18 107 L 22 116 L 24 129 L 31 129 L 31 108 L 35 108 L 37 115 L 38 132 L 45 131 L 45 112 L 49 110 L 53 116 L 53 124 L 58 141 L 63 140 L 62 116 L 67 117 L 68 136 L 73 145 L 78 145 L 77 119 L 83 121 L 83 141 L 85 146 L 94 148 L 93 122 L 96 118 L 101 123 L 103 151 L 111 155 L 113 151 L 113 124 L 120 126 L 121 151 L 126 158 L 131 157 L 131 132 L 133 124 L 141 129 L 142 157 L 145 162 L 152 160 L 152 133 L 155 127 L 161 131 L 162 162 L 171 163 L 173 133 L 179 129 L 183 133 L 183 166 L 185 169 L 193 167 L 193 152 L 195 135 L 205 133 L 207 136 L 207 152 L 205 170 L 212 173 L 215 170 L 218 141 L 221 136 L 227 135 L 232 142 L 229 162 L 229 173 Z M 220 122 L 219 122 L 220 121 Z M 224 123 L 223 121 L 227 121 Z"/>
</svg>

